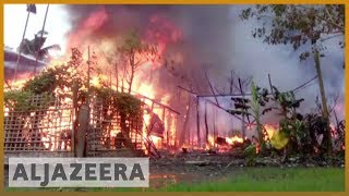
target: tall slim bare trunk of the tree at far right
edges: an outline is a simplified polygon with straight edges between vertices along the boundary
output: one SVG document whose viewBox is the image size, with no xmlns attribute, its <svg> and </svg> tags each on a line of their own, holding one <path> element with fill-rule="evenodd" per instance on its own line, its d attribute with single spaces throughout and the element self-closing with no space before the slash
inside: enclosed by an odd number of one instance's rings
<svg viewBox="0 0 349 196">
<path fill-rule="evenodd" d="M 326 147 L 328 150 L 328 154 L 332 152 L 332 135 L 330 135 L 330 128 L 329 128 L 329 113 L 328 113 L 328 108 L 327 108 L 327 101 L 326 101 L 326 94 L 325 94 L 325 87 L 324 87 L 324 81 L 323 81 L 323 75 L 320 66 L 320 52 L 317 49 L 315 49 L 315 68 L 316 68 L 316 73 L 317 73 L 317 78 L 318 78 L 318 88 L 320 88 L 320 95 L 321 95 L 321 100 L 322 100 L 322 110 L 323 110 L 323 117 L 327 122 L 327 127 L 326 127 L 326 135 L 324 135 L 324 142 L 326 143 Z"/>
</svg>

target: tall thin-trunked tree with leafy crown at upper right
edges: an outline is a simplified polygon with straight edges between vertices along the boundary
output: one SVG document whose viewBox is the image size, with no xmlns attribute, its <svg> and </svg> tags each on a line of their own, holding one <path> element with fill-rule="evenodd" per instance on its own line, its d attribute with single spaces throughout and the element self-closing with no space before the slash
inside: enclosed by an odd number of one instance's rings
<svg viewBox="0 0 349 196">
<path fill-rule="evenodd" d="M 345 34 L 345 5 L 256 5 L 242 11 L 241 19 L 251 17 L 262 22 L 252 35 L 264 38 L 268 45 L 292 45 L 294 50 L 304 49 L 300 60 L 313 57 L 316 68 L 320 94 L 322 98 L 322 113 L 329 126 L 329 113 L 321 70 L 321 57 L 324 57 L 324 41 Z M 344 48 L 345 42 L 339 41 Z M 328 152 L 332 151 L 330 128 L 324 135 Z"/>
</svg>

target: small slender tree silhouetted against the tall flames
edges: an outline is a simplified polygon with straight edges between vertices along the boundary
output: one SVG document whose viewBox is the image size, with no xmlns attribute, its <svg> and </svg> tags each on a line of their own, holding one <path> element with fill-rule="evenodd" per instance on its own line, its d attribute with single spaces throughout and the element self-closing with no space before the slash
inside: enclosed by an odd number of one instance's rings
<svg viewBox="0 0 349 196">
<path fill-rule="evenodd" d="M 140 34 L 133 29 L 125 36 L 123 45 L 119 48 L 121 58 L 125 61 L 127 83 L 129 84 L 129 94 L 132 89 L 135 72 L 149 61 L 149 57 L 157 53 L 154 46 L 143 42 Z"/>
</svg>

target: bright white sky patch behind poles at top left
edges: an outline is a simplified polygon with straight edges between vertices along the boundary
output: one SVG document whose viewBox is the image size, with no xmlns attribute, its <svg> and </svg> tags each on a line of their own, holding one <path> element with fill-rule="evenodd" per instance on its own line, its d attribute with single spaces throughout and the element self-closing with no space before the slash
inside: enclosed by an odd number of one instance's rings
<svg viewBox="0 0 349 196">
<path fill-rule="evenodd" d="M 36 4 L 36 14 L 29 16 L 25 37 L 34 38 L 34 34 L 43 28 L 47 4 Z M 48 38 L 45 45 L 59 44 L 64 49 L 64 35 L 70 28 L 68 14 L 62 5 L 50 4 L 46 20 L 45 30 Z M 4 4 L 4 45 L 17 48 L 23 36 L 24 25 L 27 17 L 26 4 Z"/>
</svg>

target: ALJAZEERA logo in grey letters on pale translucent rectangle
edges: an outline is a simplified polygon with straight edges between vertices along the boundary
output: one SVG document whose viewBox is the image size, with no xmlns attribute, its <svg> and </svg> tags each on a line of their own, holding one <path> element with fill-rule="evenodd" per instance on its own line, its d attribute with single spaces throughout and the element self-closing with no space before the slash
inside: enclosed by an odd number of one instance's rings
<svg viewBox="0 0 349 196">
<path fill-rule="evenodd" d="M 148 158 L 9 158 L 9 187 L 148 186 Z"/>
</svg>

